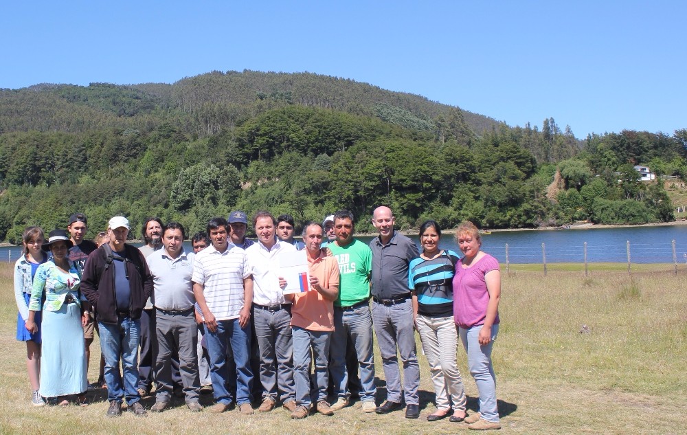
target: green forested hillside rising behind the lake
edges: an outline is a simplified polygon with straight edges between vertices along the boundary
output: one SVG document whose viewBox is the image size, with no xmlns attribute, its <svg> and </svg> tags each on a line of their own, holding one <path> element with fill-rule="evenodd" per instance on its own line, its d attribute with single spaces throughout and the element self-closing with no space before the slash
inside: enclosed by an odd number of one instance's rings
<svg viewBox="0 0 687 435">
<path fill-rule="evenodd" d="M 4 89 L 0 239 L 17 241 L 26 225 L 65 227 L 76 211 L 93 230 L 124 214 L 136 234 L 149 214 L 196 231 L 234 208 L 297 221 L 350 208 L 370 230 L 381 203 L 401 227 L 666 221 L 673 206 L 662 184 L 640 183 L 632 166 L 685 175 L 686 142 L 685 129 L 579 141 L 552 118 L 511 128 L 308 73 Z"/>
</svg>

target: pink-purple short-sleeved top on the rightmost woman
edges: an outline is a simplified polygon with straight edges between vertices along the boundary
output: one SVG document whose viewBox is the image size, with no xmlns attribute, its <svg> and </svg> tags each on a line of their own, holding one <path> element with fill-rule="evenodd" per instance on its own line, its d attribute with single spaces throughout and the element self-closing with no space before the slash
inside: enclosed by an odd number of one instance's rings
<svg viewBox="0 0 687 435">
<path fill-rule="evenodd" d="M 499 270 L 499 261 L 489 254 L 484 254 L 477 263 L 467 268 L 462 266 L 462 258 L 455 264 L 453 320 L 461 328 L 484 324 L 486 306 L 489 304 L 484 276 L 493 270 Z M 499 313 L 496 313 L 494 324 L 499 322 Z"/>
</svg>

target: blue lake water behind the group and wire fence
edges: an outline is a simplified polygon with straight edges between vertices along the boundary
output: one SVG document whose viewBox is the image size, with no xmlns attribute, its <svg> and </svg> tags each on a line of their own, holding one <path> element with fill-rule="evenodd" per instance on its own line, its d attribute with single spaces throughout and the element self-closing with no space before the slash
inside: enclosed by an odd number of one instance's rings
<svg viewBox="0 0 687 435">
<path fill-rule="evenodd" d="M 412 238 L 419 246 L 418 237 Z M 360 240 L 369 243 L 372 237 Z M 508 244 L 510 263 L 543 263 L 541 244 L 544 243 L 547 263 L 583 263 L 587 242 L 589 263 L 626 263 L 629 241 L 632 263 L 673 263 L 673 240 L 677 261 L 684 263 L 687 225 L 493 232 L 482 235 L 482 249 L 505 263 Z M 190 243 L 186 242 L 184 247 L 190 251 Z M 453 234 L 445 234 L 440 247 L 460 254 Z M 14 262 L 20 255 L 21 247 L 0 247 L 1 261 Z"/>
</svg>

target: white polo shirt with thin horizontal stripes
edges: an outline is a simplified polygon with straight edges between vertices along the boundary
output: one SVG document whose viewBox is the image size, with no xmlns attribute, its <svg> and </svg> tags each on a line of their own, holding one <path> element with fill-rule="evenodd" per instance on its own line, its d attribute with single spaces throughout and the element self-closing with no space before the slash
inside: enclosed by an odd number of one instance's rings
<svg viewBox="0 0 687 435">
<path fill-rule="evenodd" d="M 229 243 L 224 252 L 210 245 L 196 254 L 191 280 L 203 286 L 207 308 L 216 320 L 231 320 L 243 309 L 243 280 L 250 275 L 246 252 Z"/>
</svg>

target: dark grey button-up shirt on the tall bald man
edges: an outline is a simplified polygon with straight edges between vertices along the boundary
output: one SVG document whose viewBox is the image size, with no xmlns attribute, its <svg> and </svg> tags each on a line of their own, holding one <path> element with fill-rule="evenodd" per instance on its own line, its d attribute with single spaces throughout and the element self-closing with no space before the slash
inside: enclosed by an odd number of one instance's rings
<svg viewBox="0 0 687 435">
<path fill-rule="evenodd" d="M 394 231 L 389 243 L 383 245 L 379 236 L 370 242 L 372 249 L 372 295 L 377 299 L 392 299 L 409 294 L 408 265 L 419 254 L 412 240 Z"/>
</svg>

